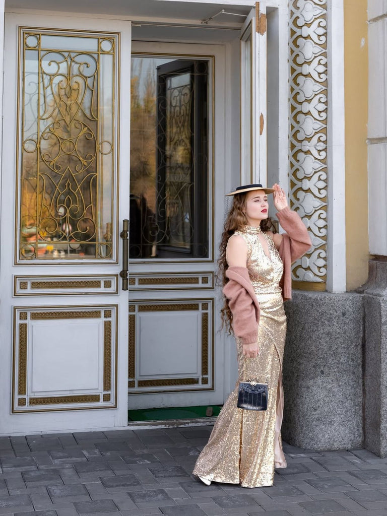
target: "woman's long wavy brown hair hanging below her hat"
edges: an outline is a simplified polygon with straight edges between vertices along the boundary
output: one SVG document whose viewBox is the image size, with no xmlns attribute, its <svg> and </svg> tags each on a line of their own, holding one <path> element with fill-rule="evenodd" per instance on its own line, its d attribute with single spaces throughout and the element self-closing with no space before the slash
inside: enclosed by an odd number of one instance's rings
<svg viewBox="0 0 387 516">
<path fill-rule="evenodd" d="M 226 260 L 226 248 L 230 237 L 235 233 L 235 231 L 243 228 L 245 225 L 248 225 L 248 220 L 246 217 L 245 207 L 247 200 L 247 192 L 236 193 L 234 195 L 233 204 L 230 208 L 230 211 L 227 215 L 227 218 L 224 222 L 224 231 L 222 233 L 222 238 L 219 245 L 219 259 L 218 259 L 218 282 L 223 287 L 226 283 L 228 283 L 229 279 L 226 277 L 225 272 L 228 269 L 228 264 Z M 277 233 L 275 225 L 272 223 L 270 217 L 267 219 L 261 220 L 261 229 L 262 231 L 272 231 L 273 233 Z M 228 333 L 232 332 L 232 321 L 233 315 L 231 313 L 229 307 L 229 300 L 224 297 L 223 307 L 220 310 L 221 319 L 222 319 L 222 328 L 226 327 Z"/>
</svg>

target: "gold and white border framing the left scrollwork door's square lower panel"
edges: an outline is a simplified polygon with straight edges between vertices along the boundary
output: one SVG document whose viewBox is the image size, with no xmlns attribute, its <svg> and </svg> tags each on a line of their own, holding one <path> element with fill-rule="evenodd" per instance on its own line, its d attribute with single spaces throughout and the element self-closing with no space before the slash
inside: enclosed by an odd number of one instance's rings
<svg viewBox="0 0 387 516">
<path fill-rule="evenodd" d="M 39 310 L 36 311 L 35 310 Z M 54 309 L 54 310 L 53 310 Z M 69 310 L 70 309 L 70 310 Z M 93 310 L 90 310 L 93 309 Z M 100 318 L 103 321 L 103 392 L 98 394 L 30 396 L 28 394 L 28 321 L 60 320 L 74 318 Z M 108 318 L 112 318 L 108 320 Z M 18 322 L 25 320 L 26 322 Z M 115 322 L 113 341 L 112 323 Z M 18 332 L 17 332 L 18 329 Z M 18 334 L 18 338 L 17 338 Z M 60 306 L 60 307 L 13 307 L 13 369 L 12 369 L 12 410 L 11 413 L 47 412 L 63 410 L 93 410 L 117 407 L 118 387 L 118 305 Z M 114 358 L 114 369 L 112 360 Z M 112 375 L 115 374 L 114 386 Z M 110 392 L 106 392 L 110 391 Z M 111 401 L 113 400 L 113 401 Z M 55 407 L 49 405 L 93 404 L 88 407 Z M 44 407 L 44 408 L 36 408 Z"/>
</svg>

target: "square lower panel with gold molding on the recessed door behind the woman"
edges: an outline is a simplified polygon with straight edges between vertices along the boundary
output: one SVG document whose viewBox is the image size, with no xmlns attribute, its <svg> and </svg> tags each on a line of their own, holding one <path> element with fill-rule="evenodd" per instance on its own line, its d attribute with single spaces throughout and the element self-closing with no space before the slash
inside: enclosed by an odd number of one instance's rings
<svg viewBox="0 0 387 516">
<path fill-rule="evenodd" d="M 130 301 L 128 394 L 214 390 L 214 304 Z"/>
</svg>

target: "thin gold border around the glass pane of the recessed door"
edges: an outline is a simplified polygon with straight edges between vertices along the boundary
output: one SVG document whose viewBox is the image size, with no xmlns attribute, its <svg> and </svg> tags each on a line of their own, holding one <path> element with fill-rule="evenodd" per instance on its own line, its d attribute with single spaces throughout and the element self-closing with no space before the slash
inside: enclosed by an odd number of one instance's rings
<svg viewBox="0 0 387 516">
<path fill-rule="evenodd" d="M 209 152 L 209 157 L 211 157 L 211 165 L 208 167 L 208 184 L 211 184 L 212 188 L 212 198 L 210 199 L 210 204 L 208 206 L 208 222 L 215 220 L 215 56 L 214 55 L 207 55 L 207 54 L 180 54 L 180 53 L 170 53 L 170 52 L 132 52 L 131 54 L 133 57 L 148 57 L 148 56 L 157 56 L 157 57 L 175 57 L 176 59 L 182 59 L 182 58 L 200 58 L 200 59 L 207 59 L 208 60 L 208 69 L 211 69 L 211 86 L 208 86 L 208 96 L 211 96 L 212 93 L 212 124 L 208 126 L 208 134 L 211 134 L 211 153 Z M 212 66 L 211 66 L 212 65 Z M 209 147 L 209 146 L 208 146 Z M 211 245 L 208 246 L 208 250 L 211 250 L 211 256 L 208 258 L 203 258 L 202 260 L 191 260 L 191 259 L 172 259 L 172 263 L 178 264 L 178 263 L 214 263 L 215 261 L 215 224 L 212 223 L 212 231 L 209 235 L 211 237 Z M 171 260 L 167 260 L 168 263 L 171 263 Z M 133 264 L 140 264 L 140 263 L 165 263 L 166 260 L 155 260 L 154 258 L 151 259 L 130 259 L 129 263 Z"/>
</svg>

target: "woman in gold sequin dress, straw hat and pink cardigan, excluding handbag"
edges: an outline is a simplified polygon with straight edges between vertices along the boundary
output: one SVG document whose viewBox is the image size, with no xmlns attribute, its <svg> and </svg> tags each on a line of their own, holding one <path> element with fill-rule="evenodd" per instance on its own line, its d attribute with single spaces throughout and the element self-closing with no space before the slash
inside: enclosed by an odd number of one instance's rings
<svg viewBox="0 0 387 516">
<path fill-rule="evenodd" d="M 268 218 L 273 193 L 286 234 Z M 225 402 L 193 474 L 243 487 L 272 486 L 275 467 L 286 467 L 281 445 L 282 358 L 286 334 L 283 301 L 291 299 L 291 263 L 311 247 L 300 217 L 289 209 L 278 184 L 239 186 L 224 223 L 219 268 L 223 321 L 235 334 L 239 378 Z M 272 230 L 272 231 L 270 231 Z M 237 408 L 239 381 L 268 383 L 266 411 Z"/>
</svg>

